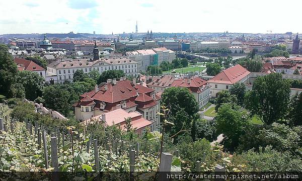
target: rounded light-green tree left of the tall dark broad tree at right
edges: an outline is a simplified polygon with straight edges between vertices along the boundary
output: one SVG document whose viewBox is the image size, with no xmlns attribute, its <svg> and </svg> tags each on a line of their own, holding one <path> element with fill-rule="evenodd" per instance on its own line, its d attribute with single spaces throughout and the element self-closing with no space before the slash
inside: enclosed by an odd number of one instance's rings
<svg viewBox="0 0 302 181">
<path fill-rule="evenodd" d="M 249 115 L 242 111 L 240 106 L 230 103 L 223 104 L 216 116 L 216 129 L 218 134 L 226 136 L 226 147 L 235 148 L 238 146 L 239 138 L 245 133 L 249 126 Z"/>
</svg>

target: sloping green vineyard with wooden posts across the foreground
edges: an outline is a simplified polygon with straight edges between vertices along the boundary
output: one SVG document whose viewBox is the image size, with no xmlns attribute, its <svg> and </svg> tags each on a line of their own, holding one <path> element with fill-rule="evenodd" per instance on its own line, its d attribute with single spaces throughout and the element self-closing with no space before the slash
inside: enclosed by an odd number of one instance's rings
<svg viewBox="0 0 302 181">
<path fill-rule="evenodd" d="M 165 138 L 160 149 L 162 134 L 156 131 L 137 135 L 93 123 L 49 126 L 38 118 L 10 115 L 4 106 L 0 111 L 2 179 L 14 174 L 20 180 L 155 180 L 161 171 L 255 171 L 262 161 L 232 160 L 221 146 L 211 147 L 207 140 L 178 147 Z"/>
</svg>

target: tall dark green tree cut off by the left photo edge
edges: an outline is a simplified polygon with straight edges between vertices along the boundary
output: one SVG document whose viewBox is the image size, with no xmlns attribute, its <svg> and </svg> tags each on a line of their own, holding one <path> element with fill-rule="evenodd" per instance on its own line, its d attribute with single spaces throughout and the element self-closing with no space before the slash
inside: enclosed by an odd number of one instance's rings
<svg viewBox="0 0 302 181">
<path fill-rule="evenodd" d="M 17 65 L 8 51 L 8 47 L 0 44 L 0 95 L 12 97 L 11 86 L 15 81 Z"/>
</svg>

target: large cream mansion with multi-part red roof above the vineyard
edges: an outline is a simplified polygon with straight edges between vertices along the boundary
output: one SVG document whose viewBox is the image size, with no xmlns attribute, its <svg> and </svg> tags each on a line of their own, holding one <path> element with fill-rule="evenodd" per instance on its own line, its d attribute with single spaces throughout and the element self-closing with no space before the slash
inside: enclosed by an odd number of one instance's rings
<svg viewBox="0 0 302 181">
<path fill-rule="evenodd" d="M 145 126 L 150 126 L 151 131 L 157 130 L 160 125 L 160 116 L 157 115 L 160 110 L 160 97 L 156 95 L 154 89 L 136 84 L 135 79 L 131 82 L 126 77 L 121 77 L 120 80 L 108 79 L 107 82 L 96 86 L 93 91 L 81 95 L 80 101 L 73 107 L 75 117 L 80 121 L 122 109 L 126 113 L 135 112 L 142 115 L 142 118 L 152 123 L 144 121 Z M 131 117 L 124 115 L 125 118 Z M 115 122 L 114 119 L 113 121 Z M 141 125 L 139 127 L 142 129 Z"/>
</svg>

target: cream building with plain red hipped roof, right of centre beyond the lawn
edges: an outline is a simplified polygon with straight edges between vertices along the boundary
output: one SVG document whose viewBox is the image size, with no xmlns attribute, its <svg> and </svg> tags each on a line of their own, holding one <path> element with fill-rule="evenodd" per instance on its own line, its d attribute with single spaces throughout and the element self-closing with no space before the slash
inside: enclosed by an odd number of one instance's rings
<svg viewBox="0 0 302 181">
<path fill-rule="evenodd" d="M 246 83 L 250 72 L 241 65 L 222 70 L 212 79 L 208 80 L 211 85 L 211 97 L 216 97 L 217 93 L 231 88 L 236 82 Z"/>
</svg>

